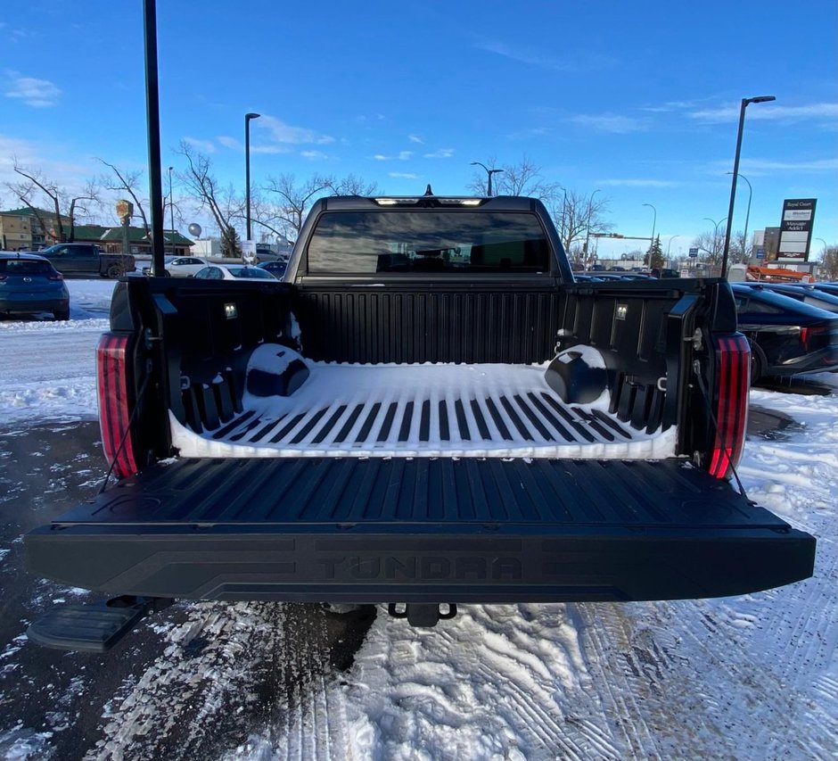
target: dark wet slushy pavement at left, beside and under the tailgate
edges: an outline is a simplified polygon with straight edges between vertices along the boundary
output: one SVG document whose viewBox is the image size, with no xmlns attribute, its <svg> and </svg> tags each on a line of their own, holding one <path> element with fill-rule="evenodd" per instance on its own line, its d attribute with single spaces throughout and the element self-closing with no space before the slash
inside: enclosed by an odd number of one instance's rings
<svg viewBox="0 0 838 761">
<path fill-rule="evenodd" d="M 27 641 L 46 609 L 98 598 L 29 575 L 22 535 L 91 499 L 104 473 L 98 423 L 0 429 L 0 758 L 213 757 L 351 666 L 374 608 L 180 602 L 105 655 Z"/>
</svg>

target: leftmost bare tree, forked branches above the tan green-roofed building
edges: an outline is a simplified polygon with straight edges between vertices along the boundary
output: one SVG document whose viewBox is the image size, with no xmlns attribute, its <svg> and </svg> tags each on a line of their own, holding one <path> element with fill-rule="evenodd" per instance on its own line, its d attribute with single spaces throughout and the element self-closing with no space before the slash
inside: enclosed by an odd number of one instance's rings
<svg viewBox="0 0 838 761">
<path fill-rule="evenodd" d="M 17 196 L 22 203 L 31 207 L 38 224 L 44 230 L 44 235 L 50 235 L 51 226 L 49 221 L 54 219 L 55 234 L 53 238 L 61 243 L 73 241 L 75 237 L 77 215 L 89 215 L 84 201 L 99 203 L 99 189 L 93 179 L 88 179 L 82 189 L 73 192 L 65 187 L 59 186 L 54 180 L 45 177 L 44 173 L 37 170 L 28 170 L 18 163 L 17 157 L 12 158 L 13 169 L 24 181 L 18 183 L 7 183 L 6 186 Z M 45 219 L 40 213 L 38 203 L 46 203 L 51 206 L 50 211 L 53 217 Z M 65 225 L 64 220 L 68 224 Z"/>
</svg>

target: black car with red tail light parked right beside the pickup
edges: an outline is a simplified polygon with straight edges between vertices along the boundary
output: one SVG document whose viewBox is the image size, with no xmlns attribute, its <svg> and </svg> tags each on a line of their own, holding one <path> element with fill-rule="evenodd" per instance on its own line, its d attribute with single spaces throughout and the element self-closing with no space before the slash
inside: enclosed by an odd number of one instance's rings
<svg viewBox="0 0 838 761">
<path fill-rule="evenodd" d="M 838 316 L 766 288 L 732 283 L 739 330 L 751 343 L 751 382 L 838 369 Z"/>
</svg>

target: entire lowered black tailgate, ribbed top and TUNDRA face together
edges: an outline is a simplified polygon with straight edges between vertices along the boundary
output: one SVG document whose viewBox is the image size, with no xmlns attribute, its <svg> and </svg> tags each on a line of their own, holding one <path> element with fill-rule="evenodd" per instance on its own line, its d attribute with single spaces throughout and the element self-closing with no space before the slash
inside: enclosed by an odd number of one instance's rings
<svg viewBox="0 0 838 761">
<path fill-rule="evenodd" d="M 815 552 L 678 459 L 179 459 L 26 546 L 31 571 L 106 593 L 419 603 L 742 594 Z"/>
</svg>

